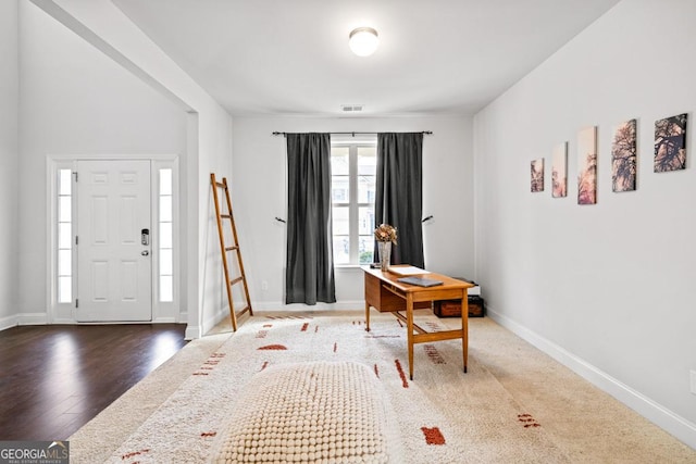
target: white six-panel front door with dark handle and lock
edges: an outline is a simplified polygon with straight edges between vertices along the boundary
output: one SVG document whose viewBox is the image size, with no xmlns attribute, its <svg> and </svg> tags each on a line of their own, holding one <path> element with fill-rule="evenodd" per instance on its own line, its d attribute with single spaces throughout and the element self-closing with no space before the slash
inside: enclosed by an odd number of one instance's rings
<svg viewBox="0 0 696 464">
<path fill-rule="evenodd" d="M 76 321 L 151 321 L 150 161 L 79 161 L 77 176 Z"/>
</svg>

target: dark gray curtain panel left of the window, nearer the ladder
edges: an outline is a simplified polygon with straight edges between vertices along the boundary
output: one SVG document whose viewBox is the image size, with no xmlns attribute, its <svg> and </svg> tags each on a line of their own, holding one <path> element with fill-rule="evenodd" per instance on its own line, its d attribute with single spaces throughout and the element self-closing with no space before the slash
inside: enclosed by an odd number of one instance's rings
<svg viewBox="0 0 696 464">
<path fill-rule="evenodd" d="M 287 134 L 285 302 L 336 302 L 331 216 L 331 136 Z"/>
</svg>

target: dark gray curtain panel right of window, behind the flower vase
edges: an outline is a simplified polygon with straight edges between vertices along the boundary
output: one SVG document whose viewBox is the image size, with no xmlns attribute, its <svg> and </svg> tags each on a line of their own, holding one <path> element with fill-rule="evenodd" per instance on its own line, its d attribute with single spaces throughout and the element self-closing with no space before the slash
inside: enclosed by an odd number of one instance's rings
<svg viewBox="0 0 696 464">
<path fill-rule="evenodd" d="M 375 226 L 397 228 L 391 264 L 425 267 L 423 258 L 423 134 L 377 134 Z M 375 243 L 374 255 L 377 255 Z"/>
</svg>

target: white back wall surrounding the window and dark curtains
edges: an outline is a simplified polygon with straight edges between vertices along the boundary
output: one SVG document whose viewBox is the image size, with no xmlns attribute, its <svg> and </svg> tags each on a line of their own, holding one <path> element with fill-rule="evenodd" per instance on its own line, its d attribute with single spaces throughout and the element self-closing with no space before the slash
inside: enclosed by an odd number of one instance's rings
<svg viewBox="0 0 696 464">
<path fill-rule="evenodd" d="M 235 117 L 233 125 L 233 205 L 249 291 L 256 309 L 285 306 L 285 218 L 287 159 L 285 138 L 273 131 L 420 131 L 423 140 L 424 253 L 428 269 L 472 276 L 472 120 L 467 117 L 309 118 Z M 262 290 L 262 283 L 268 290 Z M 336 268 L 334 305 L 363 308 L 360 268 Z"/>
</svg>

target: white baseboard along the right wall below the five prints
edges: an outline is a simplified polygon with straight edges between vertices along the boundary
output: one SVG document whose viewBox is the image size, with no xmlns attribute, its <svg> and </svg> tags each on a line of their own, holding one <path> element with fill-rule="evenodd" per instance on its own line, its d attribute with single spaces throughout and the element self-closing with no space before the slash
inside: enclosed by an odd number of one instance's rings
<svg viewBox="0 0 696 464">
<path fill-rule="evenodd" d="M 617 380 L 604 371 L 577 358 L 552 341 L 539 336 L 533 330 L 518 324 L 513 319 L 492 310 L 486 305 L 486 315 L 502 327 L 518 335 L 534 347 L 544 351 L 566 367 L 580 375 L 595 387 L 611 394 L 626 406 L 631 407 L 658 427 L 676 437 L 687 446 L 696 449 L 696 424 L 675 414 L 643 393 Z"/>
</svg>

